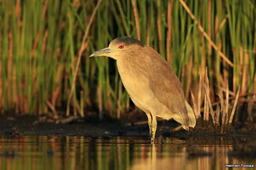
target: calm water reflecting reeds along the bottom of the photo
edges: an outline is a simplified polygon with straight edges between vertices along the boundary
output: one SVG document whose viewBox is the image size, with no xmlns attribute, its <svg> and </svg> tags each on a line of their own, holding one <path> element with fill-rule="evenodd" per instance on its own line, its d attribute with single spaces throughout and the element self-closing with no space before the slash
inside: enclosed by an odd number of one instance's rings
<svg viewBox="0 0 256 170">
<path fill-rule="evenodd" d="M 0 137 L 1 169 L 225 169 L 254 164 L 255 138 Z M 241 145 L 241 143 L 243 143 Z M 248 146 L 252 144 L 252 146 Z M 240 150 L 239 150 L 240 149 Z M 248 150 L 248 151 L 247 151 Z M 235 168 L 253 169 L 253 168 Z"/>
</svg>

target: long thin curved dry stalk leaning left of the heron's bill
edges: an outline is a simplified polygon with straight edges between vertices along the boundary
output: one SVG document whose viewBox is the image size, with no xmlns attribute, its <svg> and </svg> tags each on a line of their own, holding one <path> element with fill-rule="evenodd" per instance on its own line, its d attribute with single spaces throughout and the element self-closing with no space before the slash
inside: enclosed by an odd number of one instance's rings
<svg viewBox="0 0 256 170">
<path fill-rule="evenodd" d="M 82 53 L 83 53 L 83 51 L 85 50 L 84 44 L 86 43 L 85 41 L 86 41 L 86 38 L 87 38 L 87 36 L 88 36 L 88 33 L 89 33 L 89 30 L 90 30 L 92 21 L 93 21 L 93 19 L 94 19 L 94 17 L 95 17 L 95 14 L 96 14 L 97 9 L 100 7 L 101 2 L 102 2 L 102 0 L 99 0 L 99 1 L 97 2 L 96 7 L 93 9 L 92 15 L 91 15 L 90 20 L 89 20 L 89 22 L 88 22 L 88 24 L 87 24 L 87 27 L 86 27 L 85 34 L 83 35 L 81 48 L 80 48 L 80 50 L 79 50 L 78 58 L 77 58 L 77 61 L 76 61 L 75 72 L 73 73 L 73 77 L 72 77 L 72 85 L 71 85 L 70 95 L 68 96 L 68 99 L 67 99 L 66 116 L 70 116 L 70 102 L 71 102 L 71 98 L 72 98 L 73 91 L 74 91 L 74 89 L 75 89 L 76 76 L 77 76 L 78 68 L 79 68 L 79 65 L 80 65 Z"/>
</svg>

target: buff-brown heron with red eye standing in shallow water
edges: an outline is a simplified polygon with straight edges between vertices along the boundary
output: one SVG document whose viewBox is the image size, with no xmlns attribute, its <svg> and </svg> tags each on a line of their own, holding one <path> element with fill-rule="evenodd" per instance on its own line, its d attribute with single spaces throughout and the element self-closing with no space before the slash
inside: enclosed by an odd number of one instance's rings
<svg viewBox="0 0 256 170">
<path fill-rule="evenodd" d="M 174 119 L 187 131 L 195 127 L 195 114 L 185 100 L 179 78 L 155 49 L 135 38 L 118 37 L 109 47 L 90 55 L 98 56 L 116 60 L 122 84 L 132 102 L 146 113 L 151 143 L 155 140 L 156 117 Z"/>
</svg>

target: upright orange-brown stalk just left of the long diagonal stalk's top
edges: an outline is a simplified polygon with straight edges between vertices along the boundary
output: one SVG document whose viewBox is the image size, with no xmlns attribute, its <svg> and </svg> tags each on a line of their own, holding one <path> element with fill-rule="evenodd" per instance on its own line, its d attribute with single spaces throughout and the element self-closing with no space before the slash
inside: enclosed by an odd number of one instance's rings
<svg viewBox="0 0 256 170">
<path fill-rule="evenodd" d="M 170 63 L 170 47 L 171 47 L 171 21 L 173 18 L 173 15 L 171 15 L 173 11 L 173 1 L 174 0 L 169 0 L 168 1 L 168 9 L 167 9 L 167 26 L 168 26 L 168 31 L 167 31 L 167 36 L 166 36 L 166 60 L 168 63 Z"/>
</svg>

